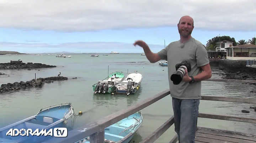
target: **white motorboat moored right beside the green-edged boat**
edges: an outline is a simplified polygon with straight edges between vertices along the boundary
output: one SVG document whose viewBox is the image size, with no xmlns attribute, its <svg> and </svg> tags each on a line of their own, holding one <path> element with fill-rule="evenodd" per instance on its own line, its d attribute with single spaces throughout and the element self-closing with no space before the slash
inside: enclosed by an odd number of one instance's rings
<svg viewBox="0 0 256 143">
<path fill-rule="evenodd" d="M 135 94 L 139 90 L 142 79 L 142 74 L 137 73 L 137 71 L 128 74 L 125 80 L 116 85 L 117 93 L 126 93 L 127 96 Z"/>
</svg>

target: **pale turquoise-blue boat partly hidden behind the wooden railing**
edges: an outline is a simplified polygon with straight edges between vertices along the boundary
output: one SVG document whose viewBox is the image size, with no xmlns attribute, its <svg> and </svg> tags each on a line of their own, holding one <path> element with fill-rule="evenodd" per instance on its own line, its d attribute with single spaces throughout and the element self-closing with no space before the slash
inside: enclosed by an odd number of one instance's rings
<svg viewBox="0 0 256 143">
<path fill-rule="evenodd" d="M 138 111 L 127 118 L 124 118 L 113 125 L 105 128 L 105 143 L 129 143 L 134 133 L 142 125 L 143 117 Z M 90 137 L 85 137 L 75 143 L 90 143 Z"/>
</svg>

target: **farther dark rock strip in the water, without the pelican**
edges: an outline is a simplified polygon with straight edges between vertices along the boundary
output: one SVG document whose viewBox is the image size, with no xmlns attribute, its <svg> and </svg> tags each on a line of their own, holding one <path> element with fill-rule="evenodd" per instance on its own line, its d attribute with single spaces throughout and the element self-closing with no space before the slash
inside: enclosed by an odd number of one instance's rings
<svg viewBox="0 0 256 143">
<path fill-rule="evenodd" d="M 47 65 L 42 63 L 0 63 L 0 69 L 38 69 L 55 68 L 56 65 Z"/>
</svg>

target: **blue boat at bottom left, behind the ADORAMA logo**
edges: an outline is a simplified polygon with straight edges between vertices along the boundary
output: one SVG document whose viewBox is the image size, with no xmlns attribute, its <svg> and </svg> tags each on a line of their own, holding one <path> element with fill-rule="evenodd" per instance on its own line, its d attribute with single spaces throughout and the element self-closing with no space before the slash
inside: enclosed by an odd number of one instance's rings
<svg viewBox="0 0 256 143">
<path fill-rule="evenodd" d="M 34 116 L 0 128 L 0 143 L 32 143 L 52 138 L 52 136 L 46 136 L 48 131 L 54 127 L 66 127 L 68 119 L 73 114 L 74 109 L 71 103 L 60 103 L 42 108 Z M 36 134 L 32 136 L 33 133 Z M 41 133 L 44 135 L 41 136 Z M 39 134 L 40 136 L 37 136 Z"/>
</svg>

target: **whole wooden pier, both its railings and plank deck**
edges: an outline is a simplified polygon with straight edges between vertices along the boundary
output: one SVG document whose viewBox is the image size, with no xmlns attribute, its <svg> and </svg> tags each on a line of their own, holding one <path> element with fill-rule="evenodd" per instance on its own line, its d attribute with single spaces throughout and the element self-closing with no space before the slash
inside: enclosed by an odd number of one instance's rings
<svg viewBox="0 0 256 143">
<path fill-rule="evenodd" d="M 256 80 L 230 80 L 230 79 L 207 79 L 205 81 L 218 81 L 218 82 L 240 82 L 240 83 L 254 83 Z M 170 95 L 170 90 L 164 90 L 154 96 L 148 97 L 143 101 L 140 101 L 128 108 L 119 110 L 94 122 L 81 126 L 75 131 L 70 132 L 68 137 L 55 138 L 54 143 L 74 143 L 85 137 L 90 136 L 90 143 L 103 143 L 105 137 L 105 128 L 132 115 L 133 113 L 142 110 L 149 105 L 159 101 L 160 99 Z M 236 102 L 236 103 L 249 103 L 256 104 L 256 99 L 252 98 L 235 98 L 235 97 L 222 97 L 222 96 L 201 96 L 203 101 L 220 101 L 220 102 Z M 245 118 L 242 116 L 227 116 L 227 115 L 216 115 L 199 113 L 199 118 L 217 119 L 217 120 L 228 120 L 238 121 L 256 124 L 255 118 Z M 174 116 L 171 116 L 164 124 L 157 128 L 154 132 L 144 138 L 140 143 L 154 143 L 168 128 L 174 124 Z M 196 143 L 256 143 L 256 135 L 248 135 L 247 133 L 240 133 L 234 131 L 225 131 L 219 129 L 212 129 L 206 127 L 197 127 L 196 132 Z M 171 138 L 170 138 L 171 139 Z M 53 141 L 48 141 L 52 142 Z M 117 143 L 123 143 L 123 140 Z M 177 134 L 171 139 L 169 143 L 177 143 Z"/>
</svg>

